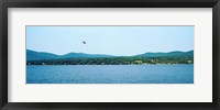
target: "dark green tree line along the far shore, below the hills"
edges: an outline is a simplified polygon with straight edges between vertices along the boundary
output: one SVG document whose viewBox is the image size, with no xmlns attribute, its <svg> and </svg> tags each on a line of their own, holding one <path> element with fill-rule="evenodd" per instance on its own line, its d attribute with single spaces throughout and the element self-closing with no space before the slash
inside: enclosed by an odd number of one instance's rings
<svg viewBox="0 0 220 110">
<path fill-rule="evenodd" d="M 145 64 L 194 64 L 194 56 L 163 57 L 78 57 L 28 61 L 26 65 L 145 65 Z"/>
</svg>

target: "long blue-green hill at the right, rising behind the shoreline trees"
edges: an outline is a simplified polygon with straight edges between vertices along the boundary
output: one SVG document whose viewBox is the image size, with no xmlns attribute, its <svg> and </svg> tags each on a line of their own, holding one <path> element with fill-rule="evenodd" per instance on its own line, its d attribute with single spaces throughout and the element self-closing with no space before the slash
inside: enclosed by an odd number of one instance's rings
<svg viewBox="0 0 220 110">
<path fill-rule="evenodd" d="M 135 55 L 138 57 L 163 57 L 163 56 L 194 56 L 194 51 L 188 52 L 169 52 L 169 53 L 145 53 Z"/>
</svg>

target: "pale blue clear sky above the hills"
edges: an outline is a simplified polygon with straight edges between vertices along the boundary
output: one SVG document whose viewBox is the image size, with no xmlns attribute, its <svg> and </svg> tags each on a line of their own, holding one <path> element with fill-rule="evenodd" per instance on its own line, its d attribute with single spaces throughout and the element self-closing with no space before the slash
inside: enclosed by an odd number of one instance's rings
<svg viewBox="0 0 220 110">
<path fill-rule="evenodd" d="M 194 26 L 26 26 L 26 50 L 119 56 L 187 52 L 194 50 Z"/>
</svg>

